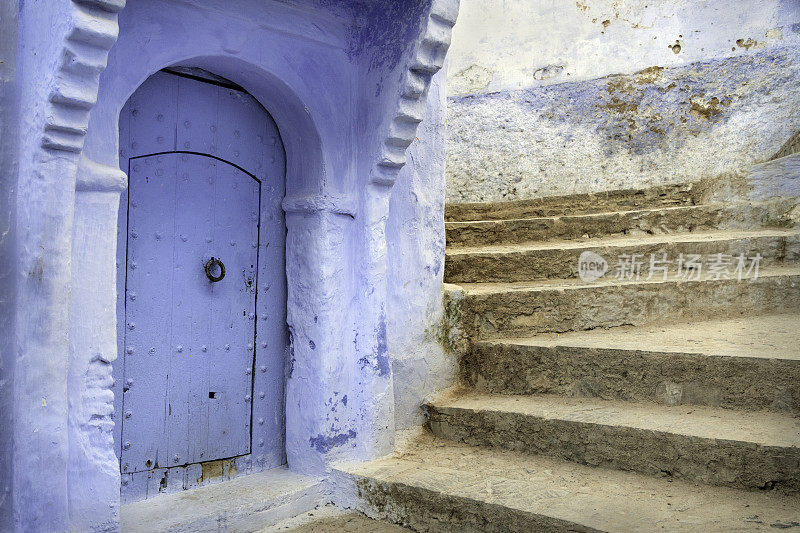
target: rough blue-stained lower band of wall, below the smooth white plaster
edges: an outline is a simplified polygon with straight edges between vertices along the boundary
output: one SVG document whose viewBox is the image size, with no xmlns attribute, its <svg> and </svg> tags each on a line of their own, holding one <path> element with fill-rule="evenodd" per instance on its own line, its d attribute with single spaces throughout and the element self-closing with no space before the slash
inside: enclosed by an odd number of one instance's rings
<svg viewBox="0 0 800 533">
<path fill-rule="evenodd" d="M 453 97 L 447 202 L 692 182 L 766 161 L 800 128 L 797 57 L 773 47 Z"/>
</svg>

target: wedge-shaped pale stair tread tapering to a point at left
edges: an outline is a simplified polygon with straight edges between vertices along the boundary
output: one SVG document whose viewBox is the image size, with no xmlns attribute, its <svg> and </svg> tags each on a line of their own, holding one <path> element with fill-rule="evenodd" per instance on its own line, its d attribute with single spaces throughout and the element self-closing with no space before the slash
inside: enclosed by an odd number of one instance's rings
<svg viewBox="0 0 800 533">
<path fill-rule="evenodd" d="M 800 314 L 670 325 L 619 326 L 478 342 L 800 361 Z"/>
</svg>

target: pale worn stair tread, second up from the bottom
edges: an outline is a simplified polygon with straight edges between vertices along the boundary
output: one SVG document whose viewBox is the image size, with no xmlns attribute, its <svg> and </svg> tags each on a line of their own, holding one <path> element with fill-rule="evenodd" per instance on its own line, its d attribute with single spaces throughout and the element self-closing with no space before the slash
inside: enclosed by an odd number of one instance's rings
<svg viewBox="0 0 800 533">
<path fill-rule="evenodd" d="M 800 446 L 800 419 L 788 414 L 701 406 L 667 406 L 556 395 L 510 396 L 468 391 L 433 402 L 440 412 L 491 411 L 600 426 L 622 426 L 762 446 Z"/>
</svg>

